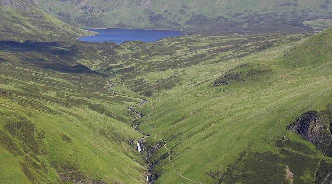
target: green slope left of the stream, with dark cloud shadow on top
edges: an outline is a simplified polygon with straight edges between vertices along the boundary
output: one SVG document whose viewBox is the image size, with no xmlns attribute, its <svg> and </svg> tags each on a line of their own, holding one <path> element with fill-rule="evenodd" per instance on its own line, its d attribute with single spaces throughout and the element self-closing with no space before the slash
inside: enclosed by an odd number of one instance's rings
<svg viewBox="0 0 332 184">
<path fill-rule="evenodd" d="M 1 183 L 144 183 L 128 116 L 141 100 L 112 94 L 75 61 L 93 45 L 73 44 L 0 43 Z"/>
</svg>

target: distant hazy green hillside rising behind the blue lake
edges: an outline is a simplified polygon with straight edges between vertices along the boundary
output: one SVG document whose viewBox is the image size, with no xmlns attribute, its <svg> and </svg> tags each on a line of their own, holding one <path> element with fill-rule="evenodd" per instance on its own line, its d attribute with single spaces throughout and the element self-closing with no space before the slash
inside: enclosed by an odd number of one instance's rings
<svg viewBox="0 0 332 184">
<path fill-rule="evenodd" d="M 37 1 L 78 27 L 183 29 L 186 32 L 303 32 L 304 21 L 330 19 L 329 1 Z"/>
</svg>

